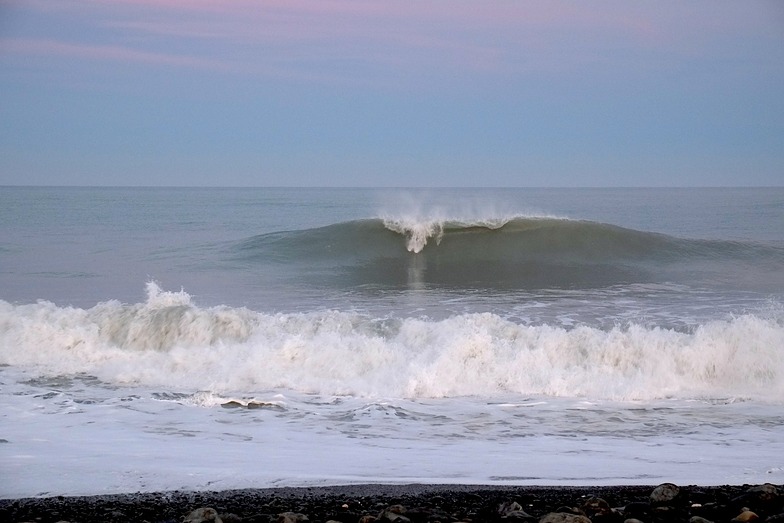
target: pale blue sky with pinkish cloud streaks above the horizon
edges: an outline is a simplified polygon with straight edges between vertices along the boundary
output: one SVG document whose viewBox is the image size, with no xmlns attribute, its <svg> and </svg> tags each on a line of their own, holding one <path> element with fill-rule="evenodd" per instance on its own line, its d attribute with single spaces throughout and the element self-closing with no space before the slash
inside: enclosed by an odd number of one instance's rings
<svg viewBox="0 0 784 523">
<path fill-rule="evenodd" d="M 0 0 L 0 185 L 781 186 L 784 2 Z"/>
</svg>

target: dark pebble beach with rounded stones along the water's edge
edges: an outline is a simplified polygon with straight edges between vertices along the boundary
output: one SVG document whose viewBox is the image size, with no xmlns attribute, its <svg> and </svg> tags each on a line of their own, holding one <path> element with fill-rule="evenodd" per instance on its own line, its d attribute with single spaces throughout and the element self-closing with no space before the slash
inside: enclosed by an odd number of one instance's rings
<svg viewBox="0 0 784 523">
<path fill-rule="evenodd" d="M 214 512 L 188 518 L 204 508 Z M 695 517 L 704 519 L 692 521 L 784 522 L 784 485 L 351 484 L 0 499 L 0 520 L 41 523 L 538 522 L 551 513 L 571 514 L 577 519 L 559 521 L 575 523 Z M 733 519 L 738 517 L 750 519 Z"/>
</svg>

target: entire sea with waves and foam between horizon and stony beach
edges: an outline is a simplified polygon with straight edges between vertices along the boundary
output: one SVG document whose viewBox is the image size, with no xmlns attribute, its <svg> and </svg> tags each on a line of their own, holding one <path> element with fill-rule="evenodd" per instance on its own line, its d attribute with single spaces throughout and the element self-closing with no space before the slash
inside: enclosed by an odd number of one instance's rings
<svg viewBox="0 0 784 523">
<path fill-rule="evenodd" d="M 0 187 L 0 497 L 784 482 L 784 188 Z"/>
</svg>

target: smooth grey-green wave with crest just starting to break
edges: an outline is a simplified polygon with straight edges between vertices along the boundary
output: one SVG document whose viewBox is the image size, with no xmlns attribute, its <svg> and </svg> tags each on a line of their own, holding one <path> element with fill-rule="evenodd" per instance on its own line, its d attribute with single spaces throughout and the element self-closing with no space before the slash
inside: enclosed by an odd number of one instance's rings
<svg viewBox="0 0 784 523">
<path fill-rule="evenodd" d="M 536 217 L 357 220 L 254 236 L 234 245 L 232 255 L 250 266 L 288 266 L 297 277 L 312 276 L 311 283 L 340 285 L 569 288 L 676 281 L 701 272 L 731 280 L 738 263 L 747 273 L 760 269 L 762 278 L 784 269 L 780 247 Z"/>
</svg>

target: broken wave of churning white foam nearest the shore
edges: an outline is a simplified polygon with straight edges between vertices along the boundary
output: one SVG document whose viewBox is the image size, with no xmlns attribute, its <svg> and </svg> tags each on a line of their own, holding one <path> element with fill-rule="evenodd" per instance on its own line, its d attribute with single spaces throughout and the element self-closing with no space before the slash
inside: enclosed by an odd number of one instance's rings
<svg viewBox="0 0 784 523">
<path fill-rule="evenodd" d="M 529 326 L 498 315 L 380 319 L 203 308 L 152 285 L 145 303 L 0 302 L 0 364 L 167 390 L 362 397 L 509 393 L 784 404 L 781 307 L 688 331 Z"/>
</svg>

